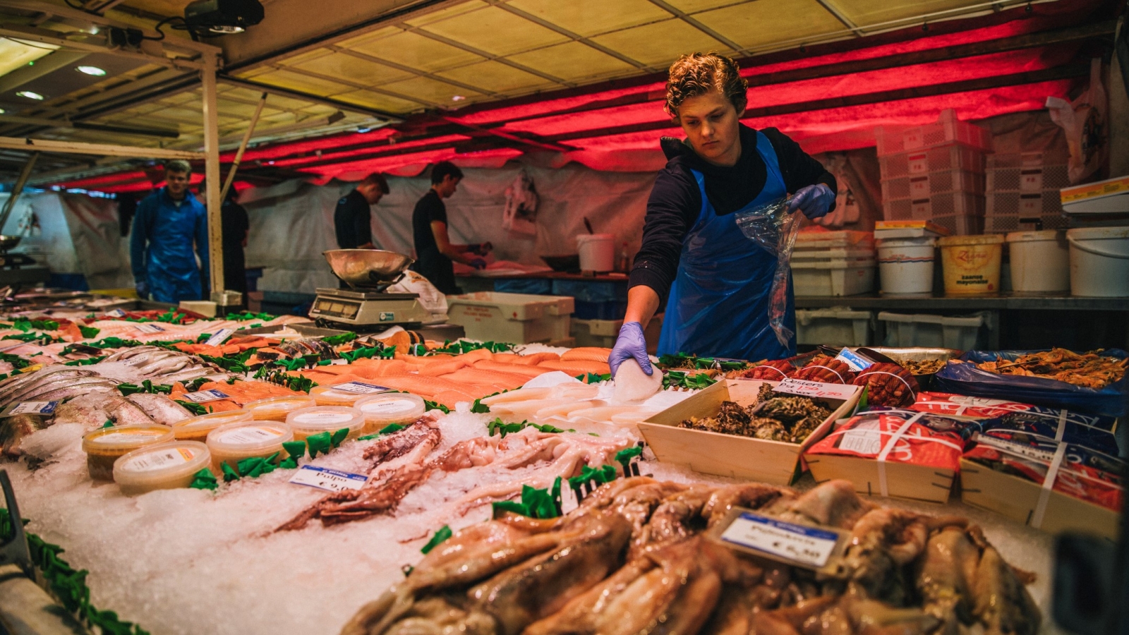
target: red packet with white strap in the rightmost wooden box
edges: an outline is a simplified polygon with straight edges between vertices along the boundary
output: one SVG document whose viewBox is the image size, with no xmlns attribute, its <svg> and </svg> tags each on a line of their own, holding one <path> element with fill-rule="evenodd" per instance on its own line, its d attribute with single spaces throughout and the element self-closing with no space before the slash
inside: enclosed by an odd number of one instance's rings
<svg viewBox="0 0 1129 635">
<path fill-rule="evenodd" d="M 1121 510 L 1124 464 L 1117 458 L 1023 432 L 997 429 L 973 438 L 975 445 L 964 454 L 968 461 L 1114 512 Z"/>
</svg>

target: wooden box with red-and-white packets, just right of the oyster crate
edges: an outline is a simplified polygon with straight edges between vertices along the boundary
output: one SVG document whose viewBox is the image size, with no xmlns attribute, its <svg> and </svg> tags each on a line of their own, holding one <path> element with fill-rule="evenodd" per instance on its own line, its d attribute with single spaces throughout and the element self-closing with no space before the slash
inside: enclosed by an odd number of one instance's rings
<svg viewBox="0 0 1129 635">
<path fill-rule="evenodd" d="M 944 503 L 974 425 L 912 410 L 868 411 L 839 425 L 804 458 L 820 482 L 841 478 L 857 492 Z"/>
</svg>

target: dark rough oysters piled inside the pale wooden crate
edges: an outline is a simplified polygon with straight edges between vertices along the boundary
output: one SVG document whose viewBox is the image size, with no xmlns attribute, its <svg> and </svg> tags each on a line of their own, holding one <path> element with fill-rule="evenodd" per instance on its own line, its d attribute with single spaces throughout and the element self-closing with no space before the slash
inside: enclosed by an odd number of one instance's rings
<svg viewBox="0 0 1129 635">
<path fill-rule="evenodd" d="M 831 411 L 812 398 L 776 393 L 764 384 L 756 403 L 745 407 L 735 401 L 723 401 L 717 415 L 691 417 L 680 423 L 679 427 L 802 443 L 831 416 Z"/>
</svg>

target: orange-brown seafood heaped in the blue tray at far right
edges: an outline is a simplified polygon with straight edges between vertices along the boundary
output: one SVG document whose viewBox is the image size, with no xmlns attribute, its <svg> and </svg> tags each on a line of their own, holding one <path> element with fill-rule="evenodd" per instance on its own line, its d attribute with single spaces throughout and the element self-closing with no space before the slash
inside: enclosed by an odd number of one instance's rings
<svg viewBox="0 0 1129 635">
<path fill-rule="evenodd" d="M 977 367 L 1000 375 L 1023 375 L 1058 380 L 1068 384 L 1101 390 L 1121 380 L 1129 358 L 1104 357 L 1101 350 L 1078 354 L 1065 348 L 1025 353 L 1015 359 L 998 357 Z"/>
</svg>

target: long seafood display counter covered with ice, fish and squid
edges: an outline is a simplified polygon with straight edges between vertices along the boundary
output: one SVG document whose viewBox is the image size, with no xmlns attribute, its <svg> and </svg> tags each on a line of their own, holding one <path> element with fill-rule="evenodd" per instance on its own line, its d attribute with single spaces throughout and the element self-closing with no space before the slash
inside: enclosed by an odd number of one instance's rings
<svg viewBox="0 0 1129 635">
<path fill-rule="evenodd" d="M 35 564 L 103 632 L 1033 635 L 1053 632 L 1050 531 L 1109 536 L 1121 504 L 1123 412 L 1087 411 L 1124 391 L 1121 351 L 686 353 L 613 380 L 607 348 L 252 313 L 55 307 L 0 318 L 0 338 L 2 469 Z M 996 392 L 960 394 L 972 371 Z M 1019 399 L 1031 382 L 1077 400 Z M 97 440 L 122 452 L 93 473 Z M 965 471 L 1039 513 L 961 495 Z"/>
</svg>

